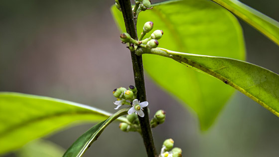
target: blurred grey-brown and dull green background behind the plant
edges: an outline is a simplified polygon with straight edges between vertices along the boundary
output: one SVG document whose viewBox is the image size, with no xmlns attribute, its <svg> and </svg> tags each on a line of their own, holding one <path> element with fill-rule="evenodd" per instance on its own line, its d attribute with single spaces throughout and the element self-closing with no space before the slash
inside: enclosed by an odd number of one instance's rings
<svg viewBox="0 0 279 157">
<path fill-rule="evenodd" d="M 157 0 L 159 1 L 159 0 Z M 278 0 L 241 0 L 279 21 Z M 152 2 L 155 2 L 154 0 Z M 110 12 L 114 0 L 0 0 L 0 91 L 43 95 L 115 112 L 112 90 L 134 84 L 130 52 Z M 240 20 L 247 60 L 279 73 L 279 47 Z M 183 157 L 278 157 L 279 118 L 236 92 L 216 123 L 200 132 L 197 118 L 145 75 L 157 151 L 167 138 Z M 94 124 L 47 137 L 67 149 Z M 110 125 L 84 157 L 145 157 L 137 133 Z M 17 157 L 16 152 L 3 157 Z"/>
</svg>

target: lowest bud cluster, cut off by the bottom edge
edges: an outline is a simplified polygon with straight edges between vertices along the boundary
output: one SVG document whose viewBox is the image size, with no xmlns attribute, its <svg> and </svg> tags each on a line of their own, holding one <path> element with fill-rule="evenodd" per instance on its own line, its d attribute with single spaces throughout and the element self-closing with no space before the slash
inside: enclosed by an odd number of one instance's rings
<svg viewBox="0 0 279 157">
<path fill-rule="evenodd" d="M 182 157 L 180 148 L 173 148 L 174 141 L 167 139 L 164 141 L 159 157 Z"/>
</svg>

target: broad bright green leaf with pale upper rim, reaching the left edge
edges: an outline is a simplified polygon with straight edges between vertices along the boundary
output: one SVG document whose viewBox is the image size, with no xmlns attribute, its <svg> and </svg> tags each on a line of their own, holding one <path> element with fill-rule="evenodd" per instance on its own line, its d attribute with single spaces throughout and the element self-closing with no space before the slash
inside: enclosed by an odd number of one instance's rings
<svg viewBox="0 0 279 157">
<path fill-rule="evenodd" d="M 100 122 L 109 116 L 105 111 L 70 101 L 0 92 L 0 154 L 73 122 Z"/>
</svg>

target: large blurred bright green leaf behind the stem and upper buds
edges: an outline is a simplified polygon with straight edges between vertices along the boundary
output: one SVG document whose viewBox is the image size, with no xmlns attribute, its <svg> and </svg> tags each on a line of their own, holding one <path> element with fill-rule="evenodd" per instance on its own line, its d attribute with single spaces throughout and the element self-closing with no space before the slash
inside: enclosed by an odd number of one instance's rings
<svg viewBox="0 0 279 157">
<path fill-rule="evenodd" d="M 236 17 L 222 6 L 208 0 L 176 0 L 153 6 L 139 13 L 138 33 L 144 22 L 152 21 L 153 30 L 164 32 L 158 40 L 159 46 L 181 52 L 245 59 L 242 28 Z M 125 31 L 122 13 L 115 6 L 112 11 Z M 143 56 L 143 64 L 156 83 L 197 114 L 201 130 L 213 124 L 235 91 L 211 76 L 161 56 Z"/>
</svg>

